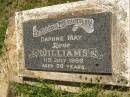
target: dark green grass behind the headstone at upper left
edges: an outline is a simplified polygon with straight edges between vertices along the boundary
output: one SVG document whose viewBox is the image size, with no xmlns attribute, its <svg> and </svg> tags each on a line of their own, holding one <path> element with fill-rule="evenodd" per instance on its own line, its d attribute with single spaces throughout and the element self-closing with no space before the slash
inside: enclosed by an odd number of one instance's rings
<svg viewBox="0 0 130 97">
<path fill-rule="evenodd" d="M 0 0 L 0 55 L 3 53 L 5 33 L 9 17 L 15 11 L 27 10 L 79 0 Z"/>
</svg>

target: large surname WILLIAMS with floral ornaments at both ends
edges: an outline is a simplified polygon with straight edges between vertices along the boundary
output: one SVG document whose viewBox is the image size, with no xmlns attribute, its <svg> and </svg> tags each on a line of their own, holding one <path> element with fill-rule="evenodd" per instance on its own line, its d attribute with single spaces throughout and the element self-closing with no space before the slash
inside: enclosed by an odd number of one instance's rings
<svg viewBox="0 0 130 97">
<path fill-rule="evenodd" d="M 86 58 L 95 58 L 102 59 L 103 54 L 99 52 L 96 48 L 88 49 L 66 49 L 66 50 L 46 50 L 43 49 L 34 49 L 29 54 L 29 58 L 37 57 L 86 57 Z"/>
</svg>

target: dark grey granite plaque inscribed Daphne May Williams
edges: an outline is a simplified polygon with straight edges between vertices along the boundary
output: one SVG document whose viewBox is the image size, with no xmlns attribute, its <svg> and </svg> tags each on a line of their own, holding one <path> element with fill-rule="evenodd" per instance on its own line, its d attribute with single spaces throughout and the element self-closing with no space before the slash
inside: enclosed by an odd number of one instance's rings
<svg viewBox="0 0 130 97">
<path fill-rule="evenodd" d="M 111 13 L 23 24 L 27 69 L 111 74 Z"/>
</svg>

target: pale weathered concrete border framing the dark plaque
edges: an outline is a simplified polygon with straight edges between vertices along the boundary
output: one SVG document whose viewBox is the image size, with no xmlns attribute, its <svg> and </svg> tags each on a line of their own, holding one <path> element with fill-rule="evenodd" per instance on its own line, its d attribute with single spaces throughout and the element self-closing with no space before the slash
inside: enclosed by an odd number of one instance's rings
<svg viewBox="0 0 130 97">
<path fill-rule="evenodd" d="M 71 82 L 102 83 L 130 86 L 129 62 L 129 0 L 87 0 L 16 13 L 16 34 L 19 76 L 40 77 Z M 58 18 L 67 15 L 84 15 L 112 12 L 112 75 L 89 75 L 45 71 L 31 71 L 24 66 L 22 23 L 34 19 Z M 61 77 L 62 76 L 62 77 Z"/>
</svg>

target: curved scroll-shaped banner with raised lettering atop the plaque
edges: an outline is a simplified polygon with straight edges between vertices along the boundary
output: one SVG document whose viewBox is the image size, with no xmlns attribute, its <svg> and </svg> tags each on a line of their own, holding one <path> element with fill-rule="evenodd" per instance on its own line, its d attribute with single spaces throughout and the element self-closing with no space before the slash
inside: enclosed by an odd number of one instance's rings
<svg viewBox="0 0 130 97">
<path fill-rule="evenodd" d="M 33 26 L 33 37 L 40 37 L 42 35 L 46 35 L 55 30 L 64 29 L 65 27 L 73 25 L 72 31 L 76 32 L 78 28 L 83 28 L 86 33 L 92 33 L 94 31 L 94 20 L 86 19 L 86 18 L 72 18 L 72 19 L 63 19 L 54 23 L 52 25 L 48 25 L 40 30 L 37 29 L 37 26 Z"/>
</svg>

